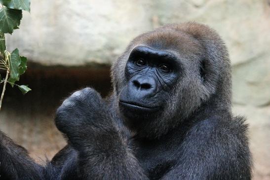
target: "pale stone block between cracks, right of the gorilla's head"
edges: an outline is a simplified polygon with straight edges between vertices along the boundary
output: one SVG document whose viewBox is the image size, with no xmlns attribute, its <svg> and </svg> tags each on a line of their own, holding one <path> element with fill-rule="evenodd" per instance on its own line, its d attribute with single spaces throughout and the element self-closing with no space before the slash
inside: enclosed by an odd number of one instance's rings
<svg viewBox="0 0 270 180">
<path fill-rule="evenodd" d="M 234 65 L 232 70 L 235 104 L 270 107 L 270 55 Z"/>
</svg>

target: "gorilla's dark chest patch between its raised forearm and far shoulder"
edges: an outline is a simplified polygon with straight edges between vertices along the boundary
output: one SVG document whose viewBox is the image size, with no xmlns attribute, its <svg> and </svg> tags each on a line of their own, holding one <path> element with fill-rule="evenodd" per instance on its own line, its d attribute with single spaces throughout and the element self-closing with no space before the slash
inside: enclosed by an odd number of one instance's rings
<svg viewBox="0 0 270 180">
<path fill-rule="evenodd" d="M 175 164 L 171 144 L 139 144 L 136 157 L 150 180 L 158 180 Z M 175 157 L 175 156 L 173 156 Z"/>
</svg>

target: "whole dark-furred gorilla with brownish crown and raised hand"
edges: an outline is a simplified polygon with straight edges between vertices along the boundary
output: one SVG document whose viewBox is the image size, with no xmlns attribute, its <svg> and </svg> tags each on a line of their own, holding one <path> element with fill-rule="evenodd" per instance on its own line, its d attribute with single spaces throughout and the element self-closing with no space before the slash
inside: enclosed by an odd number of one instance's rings
<svg viewBox="0 0 270 180">
<path fill-rule="evenodd" d="M 247 125 L 231 113 L 231 65 L 197 23 L 137 36 L 112 67 L 113 92 L 67 98 L 55 124 L 67 146 L 41 165 L 0 133 L 3 180 L 250 180 Z"/>
</svg>

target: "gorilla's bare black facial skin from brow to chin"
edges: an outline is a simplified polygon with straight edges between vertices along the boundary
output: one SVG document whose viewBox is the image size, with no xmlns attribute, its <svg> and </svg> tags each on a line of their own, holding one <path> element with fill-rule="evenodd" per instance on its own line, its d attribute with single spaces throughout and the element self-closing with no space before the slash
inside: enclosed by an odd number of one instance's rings
<svg viewBox="0 0 270 180">
<path fill-rule="evenodd" d="M 127 84 L 119 98 L 122 114 L 129 119 L 151 119 L 152 114 L 162 112 L 179 70 L 178 59 L 173 53 L 136 46 L 125 67 Z"/>
</svg>

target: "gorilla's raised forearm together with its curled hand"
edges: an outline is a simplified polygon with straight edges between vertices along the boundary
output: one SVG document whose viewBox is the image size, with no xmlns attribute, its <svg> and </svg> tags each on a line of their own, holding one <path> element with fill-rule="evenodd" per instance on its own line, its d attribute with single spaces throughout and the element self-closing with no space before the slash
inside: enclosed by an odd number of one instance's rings
<svg viewBox="0 0 270 180">
<path fill-rule="evenodd" d="M 78 151 L 82 179 L 148 179 L 95 90 L 75 92 L 58 108 L 55 122 Z"/>
</svg>

